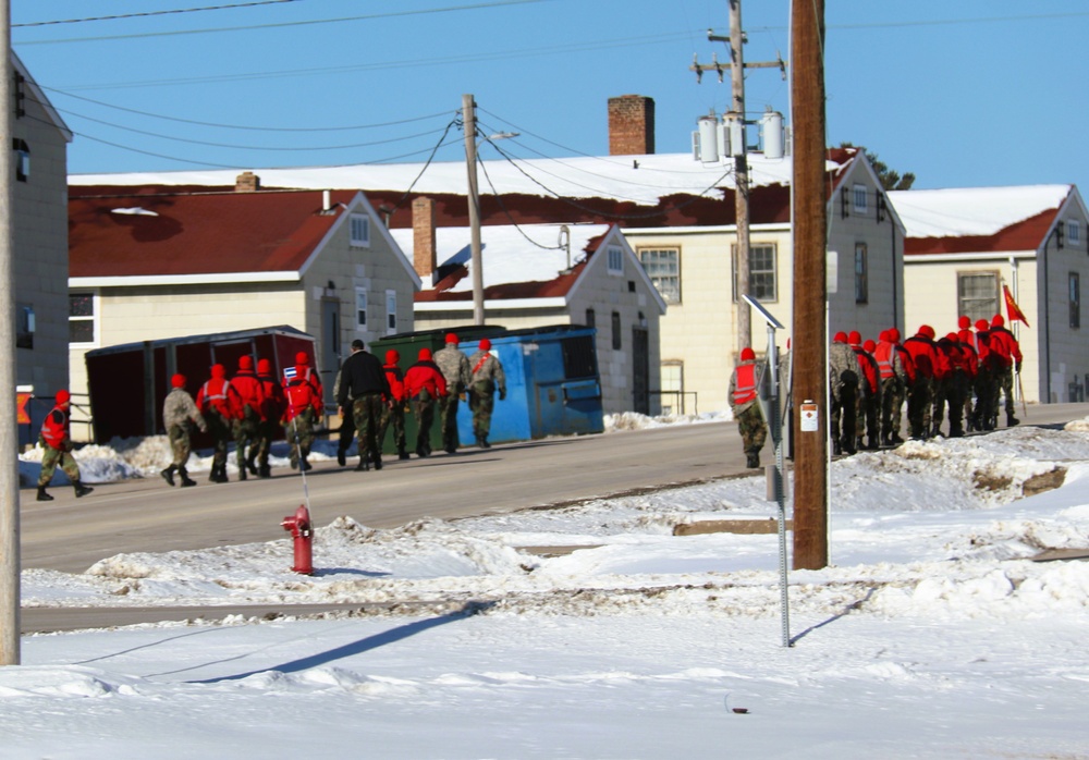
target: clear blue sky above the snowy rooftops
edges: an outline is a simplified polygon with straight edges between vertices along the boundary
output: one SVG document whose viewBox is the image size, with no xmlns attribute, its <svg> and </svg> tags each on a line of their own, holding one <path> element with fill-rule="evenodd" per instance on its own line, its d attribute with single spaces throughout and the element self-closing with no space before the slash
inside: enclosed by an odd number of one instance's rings
<svg viewBox="0 0 1089 760">
<path fill-rule="evenodd" d="M 746 60 L 788 58 L 788 16 L 746 0 Z M 726 0 L 12 0 L 12 23 L 76 133 L 73 173 L 423 161 L 464 93 L 482 130 L 522 133 L 503 144 L 519 157 L 608 154 L 607 101 L 626 94 L 654 99 L 658 152 L 683 152 L 730 100 L 729 74 L 688 70 L 727 58 L 707 39 L 729 34 Z M 916 187 L 1089 193 L 1089 2 L 828 0 L 825 23 L 829 145 Z M 778 71 L 746 90 L 752 118 L 787 112 Z M 437 158 L 464 158 L 456 127 Z"/>
</svg>

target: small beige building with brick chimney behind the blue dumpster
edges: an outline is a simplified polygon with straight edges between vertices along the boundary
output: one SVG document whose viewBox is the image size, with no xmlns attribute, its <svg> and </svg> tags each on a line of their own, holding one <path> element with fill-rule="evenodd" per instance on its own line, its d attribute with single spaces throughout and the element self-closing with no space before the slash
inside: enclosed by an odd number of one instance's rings
<svg viewBox="0 0 1089 760">
<path fill-rule="evenodd" d="M 394 231 L 403 248 L 413 248 L 417 272 L 425 280 L 416 294 L 416 328 L 472 324 L 470 231 L 428 229 L 432 217 L 426 204 L 417 204 L 415 230 Z M 597 328 L 604 413 L 658 413 L 653 391 L 659 387 L 659 320 L 665 303 L 620 228 L 491 225 L 481 229 L 481 240 L 488 324 L 509 330 L 555 324 Z"/>
</svg>

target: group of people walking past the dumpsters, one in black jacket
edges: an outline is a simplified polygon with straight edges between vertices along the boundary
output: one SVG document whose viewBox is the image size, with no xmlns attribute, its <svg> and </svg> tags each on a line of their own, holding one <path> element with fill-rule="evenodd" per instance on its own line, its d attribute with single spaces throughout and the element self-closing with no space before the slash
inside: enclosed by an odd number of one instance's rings
<svg viewBox="0 0 1089 760">
<path fill-rule="evenodd" d="M 477 445 L 488 448 L 493 395 L 498 391 L 502 400 L 506 394 L 502 365 L 490 350 L 491 342 L 481 340 L 470 360 L 460 351 L 457 336 L 449 333 L 444 347 L 433 357 L 430 348 L 420 348 L 418 360 L 402 371 L 401 355 L 395 350 L 386 353 L 382 364 L 366 351 L 363 341 L 353 341 L 352 353 L 342 364 L 333 387 L 342 420 L 338 464 L 346 466 L 347 451 L 358 436 L 359 463 L 355 469 L 381 469 L 382 441 L 390 427 L 399 458 L 407 459 L 405 413 L 408 409 L 418 426 L 417 456 L 431 454 L 436 410 L 442 426 L 443 448 L 449 453 L 455 452 L 457 404 L 466 393 L 472 399 Z M 246 480 L 248 475 L 271 477 L 269 452 L 280 428 L 290 445 L 292 469 L 313 468 L 308 457 L 323 418 L 325 395 L 321 379 L 305 352 L 295 355 L 295 365 L 284 371 L 282 383 L 273 373 L 271 361 L 259 359 L 255 370 L 252 356 L 238 358 L 238 369 L 231 378 L 222 364 L 212 365 L 210 373 L 195 400 L 186 390 L 188 380 L 184 375 L 171 378 L 172 390 L 163 402 L 162 419 L 173 461 L 160 473 L 163 480 L 174 486 L 176 476 L 183 487 L 196 485 L 185 468 L 194 426 L 211 433 L 215 442 L 211 482 L 228 481 L 228 449 L 232 441 L 240 480 Z M 39 498 L 42 490 L 39 489 Z"/>
</svg>

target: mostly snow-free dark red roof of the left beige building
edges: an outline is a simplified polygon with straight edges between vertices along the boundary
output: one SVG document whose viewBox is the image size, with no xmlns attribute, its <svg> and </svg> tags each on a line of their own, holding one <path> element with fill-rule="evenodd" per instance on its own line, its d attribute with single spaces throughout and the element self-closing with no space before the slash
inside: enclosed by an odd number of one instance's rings
<svg viewBox="0 0 1089 760">
<path fill-rule="evenodd" d="M 319 191 L 203 189 L 72 187 L 69 275 L 299 271 L 356 196 L 355 191 L 332 192 L 332 212 L 322 213 Z"/>
</svg>

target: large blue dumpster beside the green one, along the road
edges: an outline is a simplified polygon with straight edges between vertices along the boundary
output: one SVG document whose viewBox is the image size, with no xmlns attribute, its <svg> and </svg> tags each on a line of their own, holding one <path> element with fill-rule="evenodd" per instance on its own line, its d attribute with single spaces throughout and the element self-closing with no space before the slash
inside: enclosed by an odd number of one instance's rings
<svg viewBox="0 0 1089 760">
<path fill-rule="evenodd" d="M 491 353 L 506 376 L 506 400 L 495 396 L 488 440 L 604 431 L 596 334 L 595 328 L 559 324 L 490 336 Z M 462 341 L 466 355 L 477 351 L 479 338 Z M 457 436 L 463 444 L 475 440 L 468 404 L 458 407 Z"/>
</svg>

